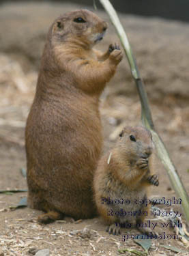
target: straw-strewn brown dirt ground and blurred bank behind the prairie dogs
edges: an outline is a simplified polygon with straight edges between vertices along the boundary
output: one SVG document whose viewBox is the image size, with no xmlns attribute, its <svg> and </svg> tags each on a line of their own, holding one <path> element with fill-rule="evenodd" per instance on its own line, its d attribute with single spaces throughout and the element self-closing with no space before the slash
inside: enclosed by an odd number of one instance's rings
<svg viewBox="0 0 189 256">
<path fill-rule="evenodd" d="M 26 168 L 25 122 L 35 94 L 40 56 L 50 23 L 59 14 L 82 6 L 52 3 L 16 3 L 0 8 L 0 190 L 27 189 L 20 169 Z M 108 21 L 106 14 L 96 11 Z M 179 176 L 189 193 L 189 25 L 158 18 L 139 18 L 121 14 L 147 94 L 156 130 L 162 137 Z M 98 48 L 117 42 L 113 27 Z M 104 151 L 111 148 L 120 127 L 141 124 L 141 106 L 128 62 L 123 59 L 115 78 L 101 98 Z M 150 197 L 176 197 L 160 160 L 155 171 L 160 186 Z M 120 255 L 119 248 L 143 251 L 132 239 L 108 235 L 100 218 L 49 225 L 36 222 L 40 211 L 29 208 L 11 210 L 27 193 L 0 194 L 0 255 L 31 255 L 31 248 L 48 248 L 50 255 Z M 166 207 L 166 210 L 171 210 Z M 182 213 L 179 205 L 173 210 Z M 184 219 L 184 217 L 183 217 Z M 158 220 L 158 223 L 160 220 Z M 89 231 L 83 229 L 87 227 Z M 173 229 L 156 231 L 173 234 Z M 137 234 L 135 229 L 123 234 Z M 180 240 L 152 240 L 149 255 L 175 255 L 162 245 L 188 251 Z M 133 255 L 126 252 L 125 255 Z M 178 255 L 189 255 L 179 253 Z"/>
</svg>

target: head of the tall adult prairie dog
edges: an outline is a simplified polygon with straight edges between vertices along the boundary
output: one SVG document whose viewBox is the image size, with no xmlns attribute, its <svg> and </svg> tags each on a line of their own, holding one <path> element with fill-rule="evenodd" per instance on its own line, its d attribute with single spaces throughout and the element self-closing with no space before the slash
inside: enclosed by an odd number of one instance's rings
<svg viewBox="0 0 189 256">
<path fill-rule="evenodd" d="M 56 42 L 81 40 L 93 46 L 102 40 L 107 23 L 89 10 L 76 10 L 57 18 L 51 29 L 51 37 Z"/>
</svg>

